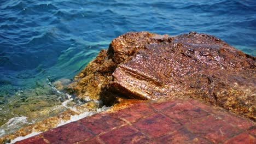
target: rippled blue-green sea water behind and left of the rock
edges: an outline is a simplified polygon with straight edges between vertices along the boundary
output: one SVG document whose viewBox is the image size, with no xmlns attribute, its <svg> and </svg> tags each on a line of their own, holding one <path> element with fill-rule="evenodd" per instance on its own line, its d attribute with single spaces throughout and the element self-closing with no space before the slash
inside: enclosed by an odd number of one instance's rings
<svg viewBox="0 0 256 144">
<path fill-rule="evenodd" d="M 48 82 L 72 79 L 123 33 L 196 31 L 256 56 L 255 26 L 254 0 L 0 0 L 0 125 L 60 105 Z"/>
</svg>

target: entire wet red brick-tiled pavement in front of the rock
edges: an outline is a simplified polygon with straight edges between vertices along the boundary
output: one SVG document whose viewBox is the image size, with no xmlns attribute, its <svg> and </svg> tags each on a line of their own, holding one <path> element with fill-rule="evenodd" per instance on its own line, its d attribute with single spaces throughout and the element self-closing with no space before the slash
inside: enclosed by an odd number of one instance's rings
<svg viewBox="0 0 256 144">
<path fill-rule="evenodd" d="M 136 102 L 16 143 L 256 143 L 255 122 L 196 100 Z"/>
</svg>

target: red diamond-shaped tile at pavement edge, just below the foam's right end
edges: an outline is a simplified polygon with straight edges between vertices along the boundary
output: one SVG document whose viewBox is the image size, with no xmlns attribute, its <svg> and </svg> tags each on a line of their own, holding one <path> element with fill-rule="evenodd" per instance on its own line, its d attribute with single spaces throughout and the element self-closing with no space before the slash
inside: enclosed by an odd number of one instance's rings
<svg viewBox="0 0 256 144">
<path fill-rule="evenodd" d="M 123 120 L 113 113 L 98 113 L 91 117 L 80 119 L 78 122 L 89 128 L 95 135 L 125 124 Z"/>
</svg>

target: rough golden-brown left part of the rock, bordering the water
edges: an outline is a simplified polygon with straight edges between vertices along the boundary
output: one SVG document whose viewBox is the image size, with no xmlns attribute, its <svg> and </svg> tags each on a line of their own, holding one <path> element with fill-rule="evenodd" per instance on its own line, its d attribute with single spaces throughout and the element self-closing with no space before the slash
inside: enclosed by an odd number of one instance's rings
<svg viewBox="0 0 256 144">
<path fill-rule="evenodd" d="M 74 82 L 69 84 L 66 91 L 78 98 L 102 99 L 104 104 L 113 104 L 115 93 L 109 93 L 109 89 L 114 70 L 144 49 L 145 44 L 160 43 L 162 39 L 170 41 L 171 37 L 148 32 L 121 35 L 110 43 L 108 50 L 101 50 L 98 56 L 74 77 Z"/>
</svg>

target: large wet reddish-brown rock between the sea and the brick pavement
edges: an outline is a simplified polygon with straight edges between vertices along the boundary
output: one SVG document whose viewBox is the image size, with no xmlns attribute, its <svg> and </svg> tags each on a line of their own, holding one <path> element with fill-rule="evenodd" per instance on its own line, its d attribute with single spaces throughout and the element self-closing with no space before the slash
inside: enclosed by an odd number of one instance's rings
<svg viewBox="0 0 256 144">
<path fill-rule="evenodd" d="M 255 121 L 255 66 L 255 57 L 211 35 L 131 32 L 102 50 L 68 91 L 105 103 L 192 97 Z"/>
</svg>

